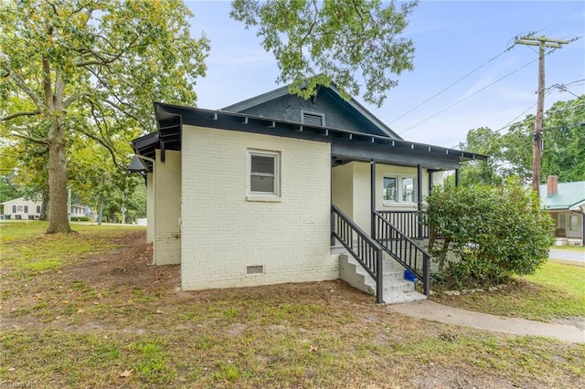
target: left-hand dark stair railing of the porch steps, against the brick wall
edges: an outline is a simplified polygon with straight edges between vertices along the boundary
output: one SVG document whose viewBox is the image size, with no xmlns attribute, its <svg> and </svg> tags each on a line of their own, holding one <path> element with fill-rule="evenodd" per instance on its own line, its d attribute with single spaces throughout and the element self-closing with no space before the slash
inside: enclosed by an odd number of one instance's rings
<svg viewBox="0 0 585 389">
<path fill-rule="evenodd" d="M 384 302 L 382 247 L 337 206 L 331 206 L 331 234 L 376 281 L 376 302 Z"/>
</svg>

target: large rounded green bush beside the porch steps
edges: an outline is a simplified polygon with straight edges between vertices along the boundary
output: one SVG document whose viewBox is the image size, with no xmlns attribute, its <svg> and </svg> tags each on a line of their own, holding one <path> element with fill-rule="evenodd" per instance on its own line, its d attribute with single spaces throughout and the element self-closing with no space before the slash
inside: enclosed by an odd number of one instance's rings
<svg viewBox="0 0 585 389">
<path fill-rule="evenodd" d="M 455 257 L 444 269 L 447 286 L 493 285 L 532 274 L 548 259 L 553 222 L 517 179 L 438 187 L 427 201 L 432 232 Z"/>
</svg>

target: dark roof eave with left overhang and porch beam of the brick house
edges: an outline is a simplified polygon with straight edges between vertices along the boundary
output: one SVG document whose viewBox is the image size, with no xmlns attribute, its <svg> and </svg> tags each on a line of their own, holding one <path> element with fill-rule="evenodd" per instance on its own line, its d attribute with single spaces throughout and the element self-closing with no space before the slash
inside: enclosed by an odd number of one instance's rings
<svg viewBox="0 0 585 389">
<path fill-rule="evenodd" d="M 158 131 L 133 140 L 134 152 L 154 159 L 154 151 L 181 150 L 183 125 L 201 126 L 227 131 L 244 131 L 272 136 L 332 143 L 334 163 L 376 160 L 405 166 L 420 164 L 429 169 L 449 170 L 469 160 L 487 160 L 484 154 L 462 152 L 419 142 L 408 142 L 388 136 L 327 127 L 309 126 L 299 122 L 278 121 L 224 110 L 204 110 L 165 103 L 154 103 Z M 152 163 L 143 162 L 148 171 Z"/>
</svg>

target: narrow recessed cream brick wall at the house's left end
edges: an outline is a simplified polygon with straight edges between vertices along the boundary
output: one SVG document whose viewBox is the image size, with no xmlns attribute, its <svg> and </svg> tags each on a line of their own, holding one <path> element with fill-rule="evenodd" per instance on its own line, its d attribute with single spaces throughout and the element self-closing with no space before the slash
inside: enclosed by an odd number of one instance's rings
<svg viewBox="0 0 585 389">
<path fill-rule="evenodd" d="M 154 263 L 181 263 L 181 152 L 156 150 L 154 165 Z"/>
</svg>

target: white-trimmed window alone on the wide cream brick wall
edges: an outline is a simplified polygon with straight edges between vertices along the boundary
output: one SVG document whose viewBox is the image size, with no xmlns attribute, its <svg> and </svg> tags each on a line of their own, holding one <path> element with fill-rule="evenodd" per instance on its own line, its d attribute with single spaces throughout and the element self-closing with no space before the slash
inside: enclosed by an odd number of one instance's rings
<svg viewBox="0 0 585 389">
<path fill-rule="evenodd" d="M 249 150 L 248 195 L 280 195 L 280 152 Z"/>
</svg>

